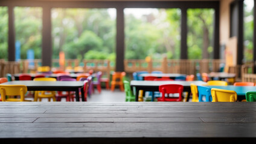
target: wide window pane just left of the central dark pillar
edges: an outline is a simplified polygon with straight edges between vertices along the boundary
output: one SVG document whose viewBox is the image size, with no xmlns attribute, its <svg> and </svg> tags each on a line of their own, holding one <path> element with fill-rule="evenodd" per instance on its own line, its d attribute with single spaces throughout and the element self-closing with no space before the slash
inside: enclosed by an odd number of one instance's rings
<svg viewBox="0 0 256 144">
<path fill-rule="evenodd" d="M 115 61 L 114 8 L 53 8 L 53 59 L 110 59 Z"/>
</svg>

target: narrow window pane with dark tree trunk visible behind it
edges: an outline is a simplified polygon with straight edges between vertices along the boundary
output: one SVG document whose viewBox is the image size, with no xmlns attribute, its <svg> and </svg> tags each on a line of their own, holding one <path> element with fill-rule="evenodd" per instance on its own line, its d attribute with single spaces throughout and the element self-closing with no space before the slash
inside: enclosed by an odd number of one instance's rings
<svg viewBox="0 0 256 144">
<path fill-rule="evenodd" d="M 214 9 L 188 9 L 188 59 L 213 58 Z"/>
</svg>

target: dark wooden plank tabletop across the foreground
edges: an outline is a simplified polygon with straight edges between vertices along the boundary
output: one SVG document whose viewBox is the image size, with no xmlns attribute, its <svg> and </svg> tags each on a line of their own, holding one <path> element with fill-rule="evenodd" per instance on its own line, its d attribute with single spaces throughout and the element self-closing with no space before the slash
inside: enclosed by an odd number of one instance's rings
<svg viewBox="0 0 256 144">
<path fill-rule="evenodd" d="M 4 143 L 255 143 L 256 103 L 1 102 L 0 131 Z"/>
</svg>

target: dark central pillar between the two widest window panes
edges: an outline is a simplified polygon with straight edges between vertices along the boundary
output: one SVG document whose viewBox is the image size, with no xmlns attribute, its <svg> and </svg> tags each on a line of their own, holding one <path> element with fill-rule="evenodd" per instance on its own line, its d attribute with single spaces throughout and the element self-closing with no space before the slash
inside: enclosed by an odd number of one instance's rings
<svg viewBox="0 0 256 144">
<path fill-rule="evenodd" d="M 117 8 L 117 46 L 115 71 L 124 71 L 124 8 Z"/>
</svg>

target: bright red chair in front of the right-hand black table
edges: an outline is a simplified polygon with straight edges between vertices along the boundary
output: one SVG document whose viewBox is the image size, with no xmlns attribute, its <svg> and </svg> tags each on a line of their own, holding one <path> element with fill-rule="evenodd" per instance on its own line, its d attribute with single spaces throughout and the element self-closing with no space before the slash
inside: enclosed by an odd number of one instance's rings
<svg viewBox="0 0 256 144">
<path fill-rule="evenodd" d="M 160 85 L 159 92 L 162 93 L 162 97 L 159 97 L 158 101 L 182 101 L 183 86 L 176 84 Z M 165 97 L 165 94 L 168 97 Z M 179 94 L 179 97 L 169 97 L 169 94 Z"/>
</svg>

